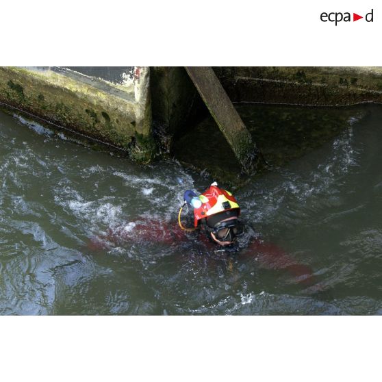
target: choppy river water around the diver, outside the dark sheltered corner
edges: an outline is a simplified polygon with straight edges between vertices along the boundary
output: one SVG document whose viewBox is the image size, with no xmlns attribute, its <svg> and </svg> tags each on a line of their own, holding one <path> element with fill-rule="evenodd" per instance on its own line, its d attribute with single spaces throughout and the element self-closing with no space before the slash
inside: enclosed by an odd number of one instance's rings
<svg viewBox="0 0 382 382">
<path fill-rule="evenodd" d="M 196 234 L 142 236 L 176 221 L 205 174 L 0 113 L 0 314 L 382 314 L 382 107 L 346 112 L 324 144 L 235 190 L 257 240 L 309 267 L 309 283 Z"/>
</svg>

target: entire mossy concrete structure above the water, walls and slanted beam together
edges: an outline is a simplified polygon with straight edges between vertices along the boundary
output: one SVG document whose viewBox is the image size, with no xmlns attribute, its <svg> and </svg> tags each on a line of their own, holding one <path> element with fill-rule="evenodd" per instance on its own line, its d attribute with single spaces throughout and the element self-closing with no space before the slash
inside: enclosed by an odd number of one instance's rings
<svg viewBox="0 0 382 382">
<path fill-rule="evenodd" d="M 225 150 L 235 153 L 230 161 L 252 173 L 262 147 L 236 102 L 382 103 L 382 68 L 0 67 L 0 103 L 122 149 L 138 163 L 173 157 L 177 142 L 210 112 Z M 197 168 L 208 166 L 206 158 Z"/>
</svg>

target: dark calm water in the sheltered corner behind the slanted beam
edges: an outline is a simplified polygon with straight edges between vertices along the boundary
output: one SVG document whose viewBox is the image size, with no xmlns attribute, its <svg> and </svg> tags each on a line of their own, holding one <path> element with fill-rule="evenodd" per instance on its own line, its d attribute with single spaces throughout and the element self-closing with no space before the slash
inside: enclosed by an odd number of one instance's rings
<svg viewBox="0 0 382 382">
<path fill-rule="evenodd" d="M 282 166 L 329 142 L 349 121 L 368 113 L 365 107 L 293 107 L 285 105 L 236 104 L 242 120 L 261 149 L 267 167 Z M 175 147 L 176 157 L 192 163 L 203 173 L 222 177 L 231 184 L 242 182 L 240 166 L 212 117 L 183 136 Z M 260 171 L 262 169 L 260 168 Z"/>
</svg>

